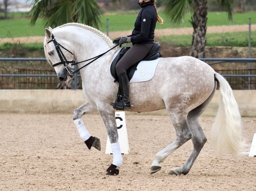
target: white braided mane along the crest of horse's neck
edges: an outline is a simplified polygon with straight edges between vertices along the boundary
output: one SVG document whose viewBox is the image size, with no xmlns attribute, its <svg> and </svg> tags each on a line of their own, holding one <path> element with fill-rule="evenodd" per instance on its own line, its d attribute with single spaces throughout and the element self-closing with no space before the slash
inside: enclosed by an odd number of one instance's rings
<svg viewBox="0 0 256 191">
<path fill-rule="evenodd" d="M 98 29 L 95 29 L 95 28 L 93 28 L 91 26 L 88 26 L 88 25 L 84 25 L 84 24 L 81 24 L 81 23 L 66 23 L 66 24 L 60 25 L 59 27 L 56 27 L 56 28 L 66 27 L 66 26 L 76 26 L 76 27 L 80 27 L 80 28 L 92 31 L 95 34 L 99 35 L 101 38 L 103 38 L 108 43 L 109 47 L 113 47 L 114 46 L 112 40 L 107 35 L 105 35 L 101 31 L 99 31 Z"/>
</svg>

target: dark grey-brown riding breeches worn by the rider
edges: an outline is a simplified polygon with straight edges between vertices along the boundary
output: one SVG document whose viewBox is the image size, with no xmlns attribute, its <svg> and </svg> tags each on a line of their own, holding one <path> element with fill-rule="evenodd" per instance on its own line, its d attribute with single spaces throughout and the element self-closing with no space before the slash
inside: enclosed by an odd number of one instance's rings
<svg viewBox="0 0 256 191">
<path fill-rule="evenodd" d="M 126 73 L 128 68 L 141 61 L 148 54 L 153 45 L 154 44 L 133 45 L 116 64 L 117 76 Z"/>
</svg>

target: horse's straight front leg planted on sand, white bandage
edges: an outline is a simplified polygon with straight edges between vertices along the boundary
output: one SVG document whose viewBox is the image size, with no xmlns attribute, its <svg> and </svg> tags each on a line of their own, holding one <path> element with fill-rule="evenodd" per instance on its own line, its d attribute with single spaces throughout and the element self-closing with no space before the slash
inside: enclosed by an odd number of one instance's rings
<svg viewBox="0 0 256 191">
<path fill-rule="evenodd" d="M 123 164 L 123 157 L 121 154 L 121 149 L 118 143 L 118 133 L 116 127 L 116 117 L 115 110 L 110 108 L 110 106 L 99 108 L 99 113 L 105 123 L 107 128 L 107 133 L 111 143 L 111 149 L 113 153 L 113 162 L 107 169 L 107 175 L 118 175 L 119 167 Z"/>
</svg>

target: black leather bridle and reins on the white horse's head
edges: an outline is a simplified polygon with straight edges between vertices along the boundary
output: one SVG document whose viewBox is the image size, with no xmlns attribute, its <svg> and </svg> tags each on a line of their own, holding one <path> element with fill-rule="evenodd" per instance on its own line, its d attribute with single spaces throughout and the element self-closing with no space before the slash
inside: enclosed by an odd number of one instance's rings
<svg viewBox="0 0 256 191">
<path fill-rule="evenodd" d="M 52 67 L 55 67 L 55 66 L 58 66 L 58 65 L 61 65 L 63 64 L 64 67 L 66 68 L 66 70 L 68 71 L 69 75 L 71 78 L 73 78 L 76 73 L 78 73 L 82 68 L 86 67 L 87 65 L 91 64 L 92 62 L 94 62 L 95 60 L 99 59 L 100 57 L 102 57 L 104 54 L 108 53 L 109 51 L 111 51 L 112 49 L 116 48 L 119 44 L 115 45 L 114 47 L 112 47 L 111 49 L 107 50 L 106 52 L 98 55 L 98 56 L 95 56 L 93 58 L 90 58 L 90 59 L 87 59 L 87 60 L 84 60 L 84 61 L 81 61 L 81 62 L 77 62 L 75 59 L 73 61 L 68 61 L 66 59 L 66 57 L 64 56 L 63 52 L 61 51 L 60 47 L 62 47 L 63 49 L 65 49 L 66 51 L 68 51 L 69 53 L 71 53 L 73 56 L 74 54 L 69 51 L 68 49 L 66 49 L 65 47 L 63 47 L 62 45 L 60 45 L 54 38 L 53 34 L 51 34 L 51 40 L 47 42 L 50 43 L 50 42 L 53 42 L 54 43 L 54 46 L 55 46 L 55 49 L 58 53 L 58 56 L 59 56 L 59 59 L 60 59 L 60 62 L 58 63 L 55 63 L 52 65 Z M 94 59 L 94 60 L 92 60 Z M 91 62 L 87 63 L 86 65 L 82 66 L 81 68 L 79 68 L 78 70 L 76 71 L 72 71 L 72 69 L 70 67 L 68 67 L 68 64 L 72 63 L 71 66 L 74 66 L 74 65 L 77 65 L 79 63 L 82 63 L 82 62 L 86 62 L 86 61 L 89 61 L 89 60 L 92 60 Z"/>
</svg>

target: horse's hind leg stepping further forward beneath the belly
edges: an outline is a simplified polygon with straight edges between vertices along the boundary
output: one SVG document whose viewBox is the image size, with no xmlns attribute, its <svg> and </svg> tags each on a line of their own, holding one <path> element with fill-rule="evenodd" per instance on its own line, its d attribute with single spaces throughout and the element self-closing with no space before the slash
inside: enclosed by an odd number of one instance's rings
<svg viewBox="0 0 256 191">
<path fill-rule="evenodd" d="M 182 144 L 184 144 L 186 141 L 188 141 L 192 137 L 192 133 L 188 127 L 188 122 L 186 119 L 187 113 L 182 113 L 182 112 L 173 113 L 168 109 L 167 111 L 176 131 L 176 139 L 170 145 L 168 145 L 167 147 L 165 147 L 163 150 L 161 150 L 155 155 L 155 159 L 151 165 L 150 174 L 153 174 L 159 171 L 161 169 L 160 162 L 163 162 L 164 159 L 169 154 L 171 154 L 173 151 L 175 151 L 177 148 L 179 148 Z"/>
</svg>

